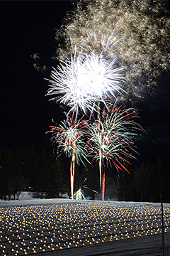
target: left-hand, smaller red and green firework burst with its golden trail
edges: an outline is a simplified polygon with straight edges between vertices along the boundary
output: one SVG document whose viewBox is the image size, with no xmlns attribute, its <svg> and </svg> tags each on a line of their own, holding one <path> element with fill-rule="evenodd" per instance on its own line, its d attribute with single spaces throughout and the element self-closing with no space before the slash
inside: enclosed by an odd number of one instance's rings
<svg viewBox="0 0 170 256">
<path fill-rule="evenodd" d="M 48 132 L 52 132 L 51 140 L 53 144 L 55 143 L 57 146 L 57 153 L 60 151 L 72 159 L 70 164 L 70 184 L 71 196 L 72 199 L 74 199 L 75 161 L 77 160 L 77 164 L 79 164 L 79 160 L 83 162 L 83 158 L 86 159 L 86 151 L 84 150 L 84 130 L 86 129 L 86 122 L 83 117 L 78 121 L 75 120 L 73 113 L 72 117 L 67 116 L 67 120 L 64 120 L 57 126 L 50 126 L 50 128 Z"/>
</svg>

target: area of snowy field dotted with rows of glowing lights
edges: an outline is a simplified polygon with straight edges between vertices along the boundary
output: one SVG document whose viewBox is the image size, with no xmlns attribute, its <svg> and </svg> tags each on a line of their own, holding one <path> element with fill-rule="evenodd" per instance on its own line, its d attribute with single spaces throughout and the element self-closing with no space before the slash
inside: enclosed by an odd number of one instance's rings
<svg viewBox="0 0 170 256">
<path fill-rule="evenodd" d="M 69 250 L 162 232 L 161 207 L 157 204 L 58 202 L 1 206 L 0 255 Z M 169 206 L 164 207 L 164 230 L 170 231 Z"/>
</svg>

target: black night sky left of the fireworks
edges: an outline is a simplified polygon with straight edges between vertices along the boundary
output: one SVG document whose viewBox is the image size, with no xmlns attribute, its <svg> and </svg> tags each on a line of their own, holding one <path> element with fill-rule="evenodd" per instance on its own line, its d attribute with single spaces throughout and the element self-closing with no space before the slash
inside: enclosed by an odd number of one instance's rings
<svg viewBox="0 0 170 256">
<path fill-rule="evenodd" d="M 45 97 L 50 73 L 38 73 L 33 53 L 51 68 L 57 42 L 54 28 L 71 1 L 0 1 L 1 10 L 1 148 L 50 144 L 45 134 L 52 118 L 62 116 Z M 61 117 L 60 117 L 61 118 Z"/>
</svg>

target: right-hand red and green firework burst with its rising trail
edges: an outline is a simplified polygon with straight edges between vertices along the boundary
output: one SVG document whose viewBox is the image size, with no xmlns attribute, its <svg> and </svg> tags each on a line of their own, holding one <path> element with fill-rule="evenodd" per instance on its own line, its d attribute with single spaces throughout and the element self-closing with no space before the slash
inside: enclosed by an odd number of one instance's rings
<svg viewBox="0 0 170 256">
<path fill-rule="evenodd" d="M 128 171 L 123 166 L 123 161 L 128 162 L 127 158 L 135 158 L 130 153 L 130 150 L 135 151 L 133 143 L 137 134 L 134 130 L 142 130 L 142 128 L 132 120 L 134 117 L 135 110 L 132 108 L 121 110 L 121 107 L 113 107 L 110 113 L 103 110 L 98 121 L 87 125 L 89 141 L 86 147 L 89 151 L 88 155 L 94 156 L 94 159 L 99 163 L 102 199 L 104 199 L 105 161 L 107 167 L 110 164 L 111 166 L 114 165 L 117 171 L 121 169 Z"/>
</svg>

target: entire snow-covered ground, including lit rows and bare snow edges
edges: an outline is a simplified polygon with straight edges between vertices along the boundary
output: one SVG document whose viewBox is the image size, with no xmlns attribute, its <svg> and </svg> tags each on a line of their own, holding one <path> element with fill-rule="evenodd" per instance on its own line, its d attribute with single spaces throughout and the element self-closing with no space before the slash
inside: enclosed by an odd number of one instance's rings
<svg viewBox="0 0 170 256">
<path fill-rule="evenodd" d="M 164 203 L 165 255 L 170 204 Z M 0 255 L 162 255 L 160 203 L 35 199 L 0 201 Z"/>
</svg>

